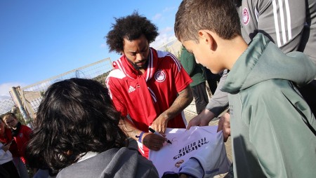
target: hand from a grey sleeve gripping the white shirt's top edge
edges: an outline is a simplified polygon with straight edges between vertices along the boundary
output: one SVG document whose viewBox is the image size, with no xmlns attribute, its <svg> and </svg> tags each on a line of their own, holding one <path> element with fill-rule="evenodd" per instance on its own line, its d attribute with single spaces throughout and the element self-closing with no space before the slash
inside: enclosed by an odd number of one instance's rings
<svg viewBox="0 0 316 178">
<path fill-rule="evenodd" d="M 187 130 L 192 126 L 206 126 L 209 125 L 209 122 L 215 118 L 214 114 L 208 109 L 204 109 L 199 115 L 195 116 L 187 124 Z"/>
</svg>

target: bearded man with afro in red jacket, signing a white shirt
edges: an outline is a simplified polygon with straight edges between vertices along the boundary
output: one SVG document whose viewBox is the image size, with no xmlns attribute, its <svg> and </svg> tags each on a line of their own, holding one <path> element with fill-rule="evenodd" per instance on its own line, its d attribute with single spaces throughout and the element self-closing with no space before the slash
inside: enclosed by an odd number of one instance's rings
<svg viewBox="0 0 316 178">
<path fill-rule="evenodd" d="M 122 56 L 113 62 L 107 88 L 122 118 L 129 118 L 121 122 L 122 130 L 148 157 L 148 149 L 158 151 L 166 141 L 149 127 L 163 136 L 167 127 L 185 128 L 183 109 L 193 99 L 192 79 L 174 55 L 150 48 L 158 36 L 150 20 L 137 12 L 115 20 L 106 40 L 110 52 Z"/>
</svg>

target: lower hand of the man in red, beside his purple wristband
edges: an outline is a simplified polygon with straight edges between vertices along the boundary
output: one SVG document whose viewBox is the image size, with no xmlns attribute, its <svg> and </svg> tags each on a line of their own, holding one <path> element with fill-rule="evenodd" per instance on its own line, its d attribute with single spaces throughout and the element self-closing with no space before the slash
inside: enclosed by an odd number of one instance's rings
<svg viewBox="0 0 316 178">
<path fill-rule="evenodd" d="M 166 137 L 161 137 L 152 133 L 144 133 L 142 143 L 147 146 L 148 149 L 159 151 L 164 146 Z"/>
</svg>

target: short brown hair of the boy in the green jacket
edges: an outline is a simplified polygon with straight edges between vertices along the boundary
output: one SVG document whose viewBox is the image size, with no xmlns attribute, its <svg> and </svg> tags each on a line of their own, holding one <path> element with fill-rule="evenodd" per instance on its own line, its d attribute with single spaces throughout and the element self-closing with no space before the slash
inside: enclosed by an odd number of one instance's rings
<svg viewBox="0 0 316 178">
<path fill-rule="evenodd" d="M 179 41 L 198 42 L 197 32 L 208 29 L 222 39 L 241 34 L 240 20 L 232 0 L 184 0 L 176 13 L 174 31 Z"/>
</svg>

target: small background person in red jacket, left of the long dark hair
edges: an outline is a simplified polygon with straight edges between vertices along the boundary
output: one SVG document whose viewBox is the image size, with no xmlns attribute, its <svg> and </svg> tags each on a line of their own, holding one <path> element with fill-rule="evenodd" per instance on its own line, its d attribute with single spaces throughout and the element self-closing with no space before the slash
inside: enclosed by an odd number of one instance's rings
<svg viewBox="0 0 316 178">
<path fill-rule="evenodd" d="M 12 135 L 7 132 L 8 138 L 13 137 L 12 143 L 12 153 L 13 153 L 13 163 L 18 168 L 18 172 L 21 178 L 29 177 L 27 172 L 27 159 L 25 158 L 25 148 L 27 142 L 29 142 L 29 135 L 32 129 L 27 127 L 27 125 L 22 125 L 18 121 L 17 116 L 14 113 L 4 114 L 4 122 L 11 128 Z"/>
</svg>

